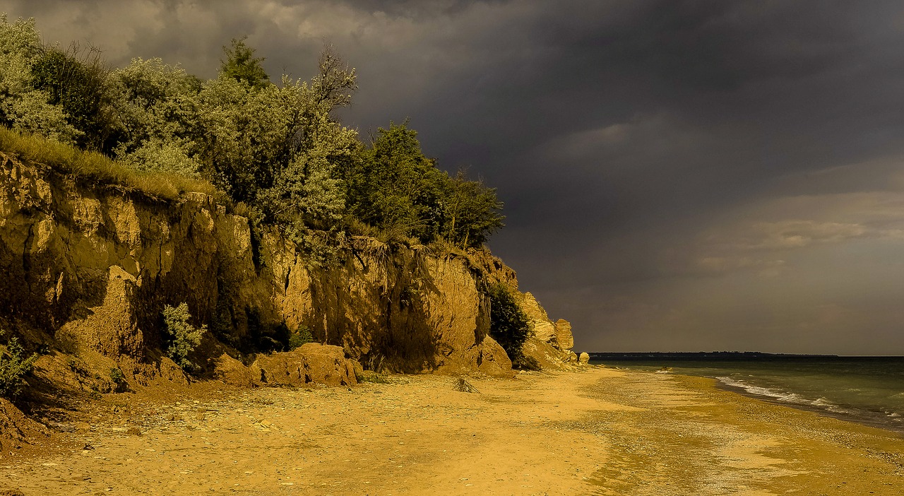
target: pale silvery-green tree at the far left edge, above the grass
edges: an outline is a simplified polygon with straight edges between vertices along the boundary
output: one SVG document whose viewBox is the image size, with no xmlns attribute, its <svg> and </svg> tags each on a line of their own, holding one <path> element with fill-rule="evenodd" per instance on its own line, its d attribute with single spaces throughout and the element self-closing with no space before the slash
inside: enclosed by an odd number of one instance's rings
<svg viewBox="0 0 904 496">
<path fill-rule="evenodd" d="M 32 86 L 32 66 L 42 54 L 34 19 L 13 24 L 0 14 L 0 123 L 12 129 L 71 143 L 80 136 L 50 95 Z"/>
</svg>

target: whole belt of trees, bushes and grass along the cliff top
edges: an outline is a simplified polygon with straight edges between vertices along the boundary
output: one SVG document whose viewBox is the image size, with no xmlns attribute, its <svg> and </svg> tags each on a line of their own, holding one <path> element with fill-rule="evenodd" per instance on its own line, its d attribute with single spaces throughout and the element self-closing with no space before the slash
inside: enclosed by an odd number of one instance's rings
<svg viewBox="0 0 904 496">
<path fill-rule="evenodd" d="M 211 80 L 160 59 L 108 68 L 97 49 L 45 45 L 33 19 L 4 14 L 0 144 L 99 184 L 217 196 L 315 254 L 346 234 L 466 249 L 503 226 L 495 190 L 439 169 L 407 121 L 364 142 L 336 118 L 357 82 L 331 49 L 307 81 L 273 81 L 263 61 L 236 38 Z"/>
</svg>

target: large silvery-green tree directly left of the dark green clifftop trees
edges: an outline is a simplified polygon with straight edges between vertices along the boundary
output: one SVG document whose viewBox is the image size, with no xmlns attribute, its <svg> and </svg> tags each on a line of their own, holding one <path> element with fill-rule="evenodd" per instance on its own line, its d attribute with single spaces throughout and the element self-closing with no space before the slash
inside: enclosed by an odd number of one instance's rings
<svg viewBox="0 0 904 496">
<path fill-rule="evenodd" d="M 334 167 L 350 159 L 357 133 L 331 119 L 323 92 L 287 77 L 259 90 L 221 77 L 200 95 L 201 157 L 211 175 L 233 199 L 259 205 L 268 221 L 294 232 L 329 228 L 344 215 Z"/>
</svg>

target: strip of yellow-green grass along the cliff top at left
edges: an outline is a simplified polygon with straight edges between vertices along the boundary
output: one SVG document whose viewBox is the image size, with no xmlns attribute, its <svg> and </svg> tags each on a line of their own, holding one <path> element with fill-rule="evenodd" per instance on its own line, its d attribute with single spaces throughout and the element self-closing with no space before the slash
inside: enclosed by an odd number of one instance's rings
<svg viewBox="0 0 904 496">
<path fill-rule="evenodd" d="M 0 126 L 0 151 L 45 164 L 77 178 L 122 186 L 165 200 L 174 200 L 186 192 L 211 195 L 218 202 L 224 202 L 226 198 L 220 190 L 203 179 L 138 171 L 97 152 L 83 151 L 52 139 L 22 134 L 4 126 Z"/>
</svg>

